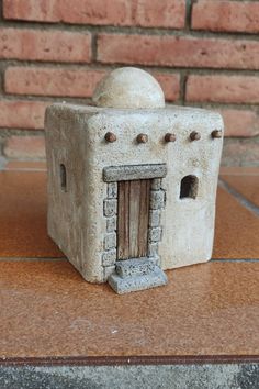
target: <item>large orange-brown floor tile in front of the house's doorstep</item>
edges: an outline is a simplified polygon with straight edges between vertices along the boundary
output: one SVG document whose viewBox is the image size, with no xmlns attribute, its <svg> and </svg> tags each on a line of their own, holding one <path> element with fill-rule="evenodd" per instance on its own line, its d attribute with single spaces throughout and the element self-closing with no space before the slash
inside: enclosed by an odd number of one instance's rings
<svg viewBox="0 0 259 389">
<path fill-rule="evenodd" d="M 259 354 L 259 264 L 167 271 L 115 294 L 66 260 L 0 262 L 1 357 Z"/>
</svg>

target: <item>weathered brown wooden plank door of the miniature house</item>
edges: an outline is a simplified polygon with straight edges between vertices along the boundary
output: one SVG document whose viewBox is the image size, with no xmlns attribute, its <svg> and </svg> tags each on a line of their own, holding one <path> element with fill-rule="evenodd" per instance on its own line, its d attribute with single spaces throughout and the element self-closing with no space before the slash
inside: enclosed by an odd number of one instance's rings
<svg viewBox="0 0 259 389">
<path fill-rule="evenodd" d="M 147 256 L 150 180 L 119 181 L 117 259 Z"/>
</svg>

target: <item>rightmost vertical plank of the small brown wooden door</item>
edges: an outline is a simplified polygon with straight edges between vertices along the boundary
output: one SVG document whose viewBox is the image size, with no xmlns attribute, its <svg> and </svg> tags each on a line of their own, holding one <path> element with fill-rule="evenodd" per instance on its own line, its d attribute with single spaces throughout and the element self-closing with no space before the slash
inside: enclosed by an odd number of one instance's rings
<svg viewBox="0 0 259 389">
<path fill-rule="evenodd" d="M 149 216 L 149 192 L 150 180 L 140 181 L 140 209 L 138 224 L 138 256 L 147 256 L 147 234 L 148 234 L 148 216 Z"/>
</svg>

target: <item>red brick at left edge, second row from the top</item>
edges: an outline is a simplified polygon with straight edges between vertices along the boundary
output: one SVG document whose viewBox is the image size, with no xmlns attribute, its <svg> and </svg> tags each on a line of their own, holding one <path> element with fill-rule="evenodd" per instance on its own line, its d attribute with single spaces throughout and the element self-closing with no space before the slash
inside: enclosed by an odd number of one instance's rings
<svg viewBox="0 0 259 389">
<path fill-rule="evenodd" d="M 91 58 L 91 35 L 1 27 L 0 58 L 88 63 Z"/>
</svg>

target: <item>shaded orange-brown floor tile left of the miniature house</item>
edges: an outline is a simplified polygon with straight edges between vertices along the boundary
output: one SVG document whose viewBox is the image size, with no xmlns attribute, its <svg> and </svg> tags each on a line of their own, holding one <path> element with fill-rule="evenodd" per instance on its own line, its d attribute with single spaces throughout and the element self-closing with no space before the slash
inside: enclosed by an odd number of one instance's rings
<svg viewBox="0 0 259 389">
<path fill-rule="evenodd" d="M 46 173 L 1 171 L 0 187 L 0 256 L 63 256 L 46 231 Z"/>
</svg>

